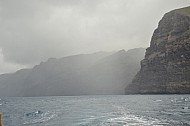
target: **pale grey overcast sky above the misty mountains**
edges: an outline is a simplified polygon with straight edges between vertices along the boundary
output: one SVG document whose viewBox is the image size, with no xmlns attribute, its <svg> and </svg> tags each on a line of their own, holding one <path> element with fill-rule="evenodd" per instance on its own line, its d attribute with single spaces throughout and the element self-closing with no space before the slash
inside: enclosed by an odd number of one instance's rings
<svg viewBox="0 0 190 126">
<path fill-rule="evenodd" d="M 0 0 L 0 73 L 49 57 L 148 47 L 164 13 L 190 0 Z"/>
</svg>

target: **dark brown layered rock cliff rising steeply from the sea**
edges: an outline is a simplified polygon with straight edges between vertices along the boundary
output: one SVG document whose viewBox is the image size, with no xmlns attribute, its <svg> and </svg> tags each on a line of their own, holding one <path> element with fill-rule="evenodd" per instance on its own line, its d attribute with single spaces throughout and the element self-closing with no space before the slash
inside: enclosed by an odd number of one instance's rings
<svg viewBox="0 0 190 126">
<path fill-rule="evenodd" d="M 146 49 L 133 93 L 190 93 L 190 7 L 166 13 Z"/>
</svg>

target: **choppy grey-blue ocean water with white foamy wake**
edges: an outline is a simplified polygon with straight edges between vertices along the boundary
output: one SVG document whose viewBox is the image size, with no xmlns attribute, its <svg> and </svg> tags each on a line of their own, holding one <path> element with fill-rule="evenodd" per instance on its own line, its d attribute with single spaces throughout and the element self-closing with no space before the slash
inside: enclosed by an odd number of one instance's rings
<svg viewBox="0 0 190 126">
<path fill-rule="evenodd" d="M 190 126 L 190 95 L 11 97 L 3 126 Z"/>
</svg>

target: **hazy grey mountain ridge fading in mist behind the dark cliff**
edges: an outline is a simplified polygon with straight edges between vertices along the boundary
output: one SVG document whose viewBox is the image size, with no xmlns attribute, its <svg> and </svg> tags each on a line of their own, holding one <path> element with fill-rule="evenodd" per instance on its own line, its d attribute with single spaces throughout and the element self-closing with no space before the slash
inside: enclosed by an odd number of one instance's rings
<svg viewBox="0 0 190 126">
<path fill-rule="evenodd" d="M 0 96 L 124 94 L 144 52 L 138 48 L 51 58 L 32 69 L 1 75 Z"/>
</svg>

